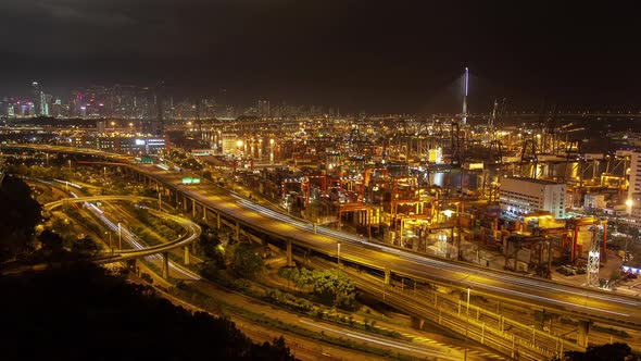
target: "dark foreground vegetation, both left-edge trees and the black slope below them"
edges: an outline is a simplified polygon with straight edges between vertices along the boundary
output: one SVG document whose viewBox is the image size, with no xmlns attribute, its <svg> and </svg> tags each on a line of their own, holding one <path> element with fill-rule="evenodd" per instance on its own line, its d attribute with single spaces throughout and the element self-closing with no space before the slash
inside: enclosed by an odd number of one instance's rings
<svg viewBox="0 0 641 361">
<path fill-rule="evenodd" d="M 2 360 L 293 360 L 282 337 L 253 344 L 227 319 L 192 314 L 150 286 L 127 283 L 126 272 L 87 262 L 96 244 L 70 242 L 68 220 L 53 228 L 38 224 L 40 206 L 22 179 L 4 177 L 0 202 L 0 269 L 55 265 L 0 277 L 10 331 L 3 345 L 11 345 Z"/>
</svg>

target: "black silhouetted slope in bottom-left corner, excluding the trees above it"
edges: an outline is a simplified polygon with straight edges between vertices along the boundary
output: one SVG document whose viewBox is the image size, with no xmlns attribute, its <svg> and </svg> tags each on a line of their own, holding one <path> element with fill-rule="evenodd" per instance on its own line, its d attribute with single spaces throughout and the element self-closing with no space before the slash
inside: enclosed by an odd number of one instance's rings
<svg viewBox="0 0 641 361">
<path fill-rule="evenodd" d="M 191 313 L 109 272 L 78 262 L 0 277 L 11 290 L 2 360 L 293 360 L 285 340 L 253 344 L 229 319 Z"/>
</svg>

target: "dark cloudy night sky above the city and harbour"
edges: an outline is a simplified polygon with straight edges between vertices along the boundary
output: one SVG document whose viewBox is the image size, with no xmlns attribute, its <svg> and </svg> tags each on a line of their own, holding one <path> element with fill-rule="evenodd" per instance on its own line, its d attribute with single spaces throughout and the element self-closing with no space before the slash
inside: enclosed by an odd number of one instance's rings
<svg viewBox="0 0 641 361">
<path fill-rule="evenodd" d="M 472 112 L 639 109 L 640 26 L 633 2 L 1 0 L 0 95 L 165 79 L 234 102 L 456 112 L 469 66 Z"/>
</svg>

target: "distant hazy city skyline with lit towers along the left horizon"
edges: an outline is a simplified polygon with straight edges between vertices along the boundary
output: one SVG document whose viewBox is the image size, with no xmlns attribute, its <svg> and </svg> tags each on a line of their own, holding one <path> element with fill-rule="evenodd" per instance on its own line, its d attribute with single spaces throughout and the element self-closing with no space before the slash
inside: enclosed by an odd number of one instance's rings
<svg viewBox="0 0 641 361">
<path fill-rule="evenodd" d="M 55 88 L 55 87 L 54 87 Z M 32 82 L 22 95 L 0 96 L 0 117 L 122 117 L 214 119 L 240 115 L 263 117 L 338 116 L 338 107 L 296 104 L 253 99 L 251 103 L 229 102 L 227 91 L 218 89 L 206 96 L 180 94 L 158 83 L 153 86 L 114 84 L 87 86 L 52 92 L 39 82 Z M 16 91 L 17 92 L 17 91 Z"/>
</svg>

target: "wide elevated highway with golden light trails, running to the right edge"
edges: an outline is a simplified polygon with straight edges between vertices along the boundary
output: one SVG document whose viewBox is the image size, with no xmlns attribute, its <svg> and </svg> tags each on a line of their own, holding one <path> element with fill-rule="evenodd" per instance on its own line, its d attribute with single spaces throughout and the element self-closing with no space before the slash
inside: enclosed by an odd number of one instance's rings
<svg viewBox="0 0 641 361">
<path fill-rule="evenodd" d="M 40 151 L 38 146 L 32 147 Z M 77 152 L 81 154 L 83 150 Z M 163 170 L 149 164 L 111 164 L 135 174 L 149 186 L 158 187 L 163 199 L 175 201 L 184 211 L 191 211 L 194 216 L 216 222 L 218 226 L 222 223 L 230 225 L 236 237 L 239 237 L 241 229 L 251 229 L 285 244 L 288 261 L 291 261 L 292 245 L 296 245 L 306 250 L 306 254 L 316 252 L 328 258 L 340 257 L 342 262 L 377 270 L 385 274 L 386 279 L 395 274 L 461 290 L 470 288 L 475 295 L 520 303 L 524 308 L 571 315 L 582 320 L 579 328 L 585 329 L 585 334 L 591 322 L 641 329 L 639 298 L 416 254 L 364 237 L 317 227 L 229 194 L 206 182 L 183 185 L 185 172 Z M 587 346 L 587 337 L 585 344 L 580 346 Z"/>
</svg>

